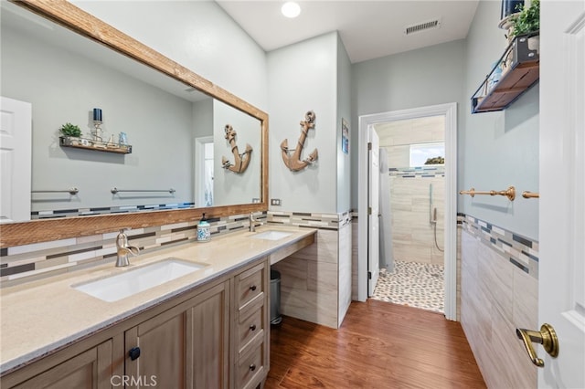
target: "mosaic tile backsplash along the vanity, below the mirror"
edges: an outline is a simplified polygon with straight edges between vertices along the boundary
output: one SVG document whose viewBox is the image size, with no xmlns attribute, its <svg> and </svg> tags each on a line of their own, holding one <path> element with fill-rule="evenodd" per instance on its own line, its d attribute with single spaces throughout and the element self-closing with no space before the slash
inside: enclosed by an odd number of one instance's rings
<svg viewBox="0 0 585 389">
<path fill-rule="evenodd" d="M 248 227 L 248 214 L 207 219 L 211 236 L 229 234 Z M 256 218 L 266 223 L 266 213 Z M 147 253 L 156 248 L 197 239 L 197 221 L 136 228 L 126 232 L 133 246 Z M 81 268 L 113 262 L 118 232 L 90 237 L 72 237 L 51 242 L 7 247 L 0 250 L 0 283 L 7 287 Z"/>
</svg>

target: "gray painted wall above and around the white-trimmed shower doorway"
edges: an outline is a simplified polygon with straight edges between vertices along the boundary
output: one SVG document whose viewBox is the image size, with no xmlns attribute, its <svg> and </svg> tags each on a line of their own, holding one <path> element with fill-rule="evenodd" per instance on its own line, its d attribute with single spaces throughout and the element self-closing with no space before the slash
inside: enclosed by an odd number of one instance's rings
<svg viewBox="0 0 585 389">
<path fill-rule="evenodd" d="M 456 40 L 354 64 L 352 69 L 352 143 L 357 146 L 360 115 L 457 102 L 461 131 L 465 41 Z M 461 147 L 461 146 L 459 146 Z M 461 150 L 461 149 L 460 149 Z M 357 152 L 352 152 L 351 205 L 357 209 Z"/>
</svg>

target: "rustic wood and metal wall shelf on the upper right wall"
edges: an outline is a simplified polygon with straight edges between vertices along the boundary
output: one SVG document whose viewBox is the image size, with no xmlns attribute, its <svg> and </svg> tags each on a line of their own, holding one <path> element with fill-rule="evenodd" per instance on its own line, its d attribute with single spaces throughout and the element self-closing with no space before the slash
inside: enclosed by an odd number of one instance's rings
<svg viewBox="0 0 585 389">
<path fill-rule="evenodd" d="M 516 37 L 473 93 L 472 113 L 505 110 L 540 77 L 539 34 Z"/>
</svg>

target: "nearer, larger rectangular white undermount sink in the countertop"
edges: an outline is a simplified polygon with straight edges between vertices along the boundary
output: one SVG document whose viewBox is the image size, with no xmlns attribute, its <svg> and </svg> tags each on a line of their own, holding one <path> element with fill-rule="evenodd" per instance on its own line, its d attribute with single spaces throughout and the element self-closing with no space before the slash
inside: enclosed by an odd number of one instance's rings
<svg viewBox="0 0 585 389">
<path fill-rule="evenodd" d="M 150 265 L 129 269 L 122 274 L 85 282 L 72 288 L 97 299 L 112 302 L 186 276 L 206 266 L 177 258 L 168 258 Z"/>
</svg>

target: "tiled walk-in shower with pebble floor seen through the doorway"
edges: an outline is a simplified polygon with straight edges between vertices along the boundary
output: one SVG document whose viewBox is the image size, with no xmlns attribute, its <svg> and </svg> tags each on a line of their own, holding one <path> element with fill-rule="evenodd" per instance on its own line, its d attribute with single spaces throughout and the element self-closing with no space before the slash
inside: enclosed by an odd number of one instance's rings
<svg viewBox="0 0 585 389">
<path fill-rule="evenodd" d="M 375 129 L 384 158 L 380 166 L 388 166 L 380 172 L 388 185 L 379 197 L 380 209 L 388 209 L 380 213 L 380 226 L 388 227 L 380 228 L 381 270 L 373 298 L 442 312 L 444 117 L 391 121 Z"/>
</svg>

